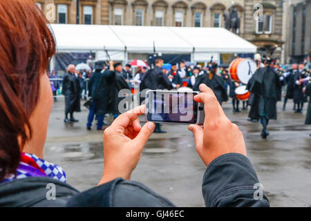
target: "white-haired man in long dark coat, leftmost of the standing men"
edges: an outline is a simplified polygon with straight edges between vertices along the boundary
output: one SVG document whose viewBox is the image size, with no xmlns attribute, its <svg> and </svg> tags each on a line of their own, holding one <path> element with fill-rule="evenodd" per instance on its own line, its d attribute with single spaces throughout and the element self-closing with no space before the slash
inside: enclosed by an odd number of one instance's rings
<svg viewBox="0 0 311 221">
<path fill-rule="evenodd" d="M 67 73 L 63 79 L 62 94 L 65 95 L 65 123 L 79 122 L 79 120 L 73 117 L 74 112 L 80 110 L 80 84 L 79 79 L 75 77 L 75 66 L 70 64 L 67 68 Z M 68 119 L 68 113 L 70 119 Z"/>
</svg>

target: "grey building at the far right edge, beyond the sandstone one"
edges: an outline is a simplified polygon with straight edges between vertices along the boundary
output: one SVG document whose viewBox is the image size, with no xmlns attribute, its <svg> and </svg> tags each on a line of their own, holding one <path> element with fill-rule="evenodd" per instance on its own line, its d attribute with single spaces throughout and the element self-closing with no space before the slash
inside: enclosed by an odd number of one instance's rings
<svg viewBox="0 0 311 221">
<path fill-rule="evenodd" d="M 311 57 L 311 0 L 289 0 L 284 5 L 283 60 L 309 62 Z"/>
</svg>

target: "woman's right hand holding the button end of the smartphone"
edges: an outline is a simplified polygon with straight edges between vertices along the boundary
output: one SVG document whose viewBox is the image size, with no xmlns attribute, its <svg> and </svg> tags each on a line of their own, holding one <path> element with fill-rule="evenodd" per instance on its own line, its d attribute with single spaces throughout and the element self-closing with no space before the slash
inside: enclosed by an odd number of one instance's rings
<svg viewBox="0 0 311 221">
<path fill-rule="evenodd" d="M 225 153 L 241 153 L 246 155 L 243 135 L 236 124 L 232 124 L 223 112 L 214 92 L 205 84 L 200 84 L 202 93 L 194 100 L 204 103 L 205 122 L 203 128 L 189 125 L 189 131 L 194 133 L 196 151 L 206 166 Z"/>
</svg>

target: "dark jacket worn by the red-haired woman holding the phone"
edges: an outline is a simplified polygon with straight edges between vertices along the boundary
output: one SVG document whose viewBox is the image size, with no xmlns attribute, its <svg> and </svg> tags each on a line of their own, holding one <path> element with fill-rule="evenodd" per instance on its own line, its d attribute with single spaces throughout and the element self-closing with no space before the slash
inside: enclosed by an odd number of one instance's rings
<svg viewBox="0 0 311 221">
<path fill-rule="evenodd" d="M 47 200 L 47 184 L 55 184 L 55 200 Z M 203 176 L 206 206 L 270 206 L 251 162 L 244 155 L 217 157 Z M 258 194 L 257 194 L 258 193 Z M 262 194 L 261 194 L 262 193 Z M 28 177 L 0 184 L 0 206 L 174 206 L 134 181 L 115 179 L 79 193 L 50 177 Z"/>
</svg>

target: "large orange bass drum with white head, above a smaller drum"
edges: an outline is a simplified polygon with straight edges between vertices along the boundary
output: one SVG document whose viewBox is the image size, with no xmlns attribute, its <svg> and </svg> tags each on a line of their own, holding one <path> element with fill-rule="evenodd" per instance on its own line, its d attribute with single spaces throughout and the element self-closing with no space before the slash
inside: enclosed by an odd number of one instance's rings
<svg viewBox="0 0 311 221">
<path fill-rule="evenodd" d="M 229 73 L 234 81 L 247 84 L 254 75 L 256 68 L 256 62 L 252 59 L 237 58 L 229 65 Z"/>
</svg>

